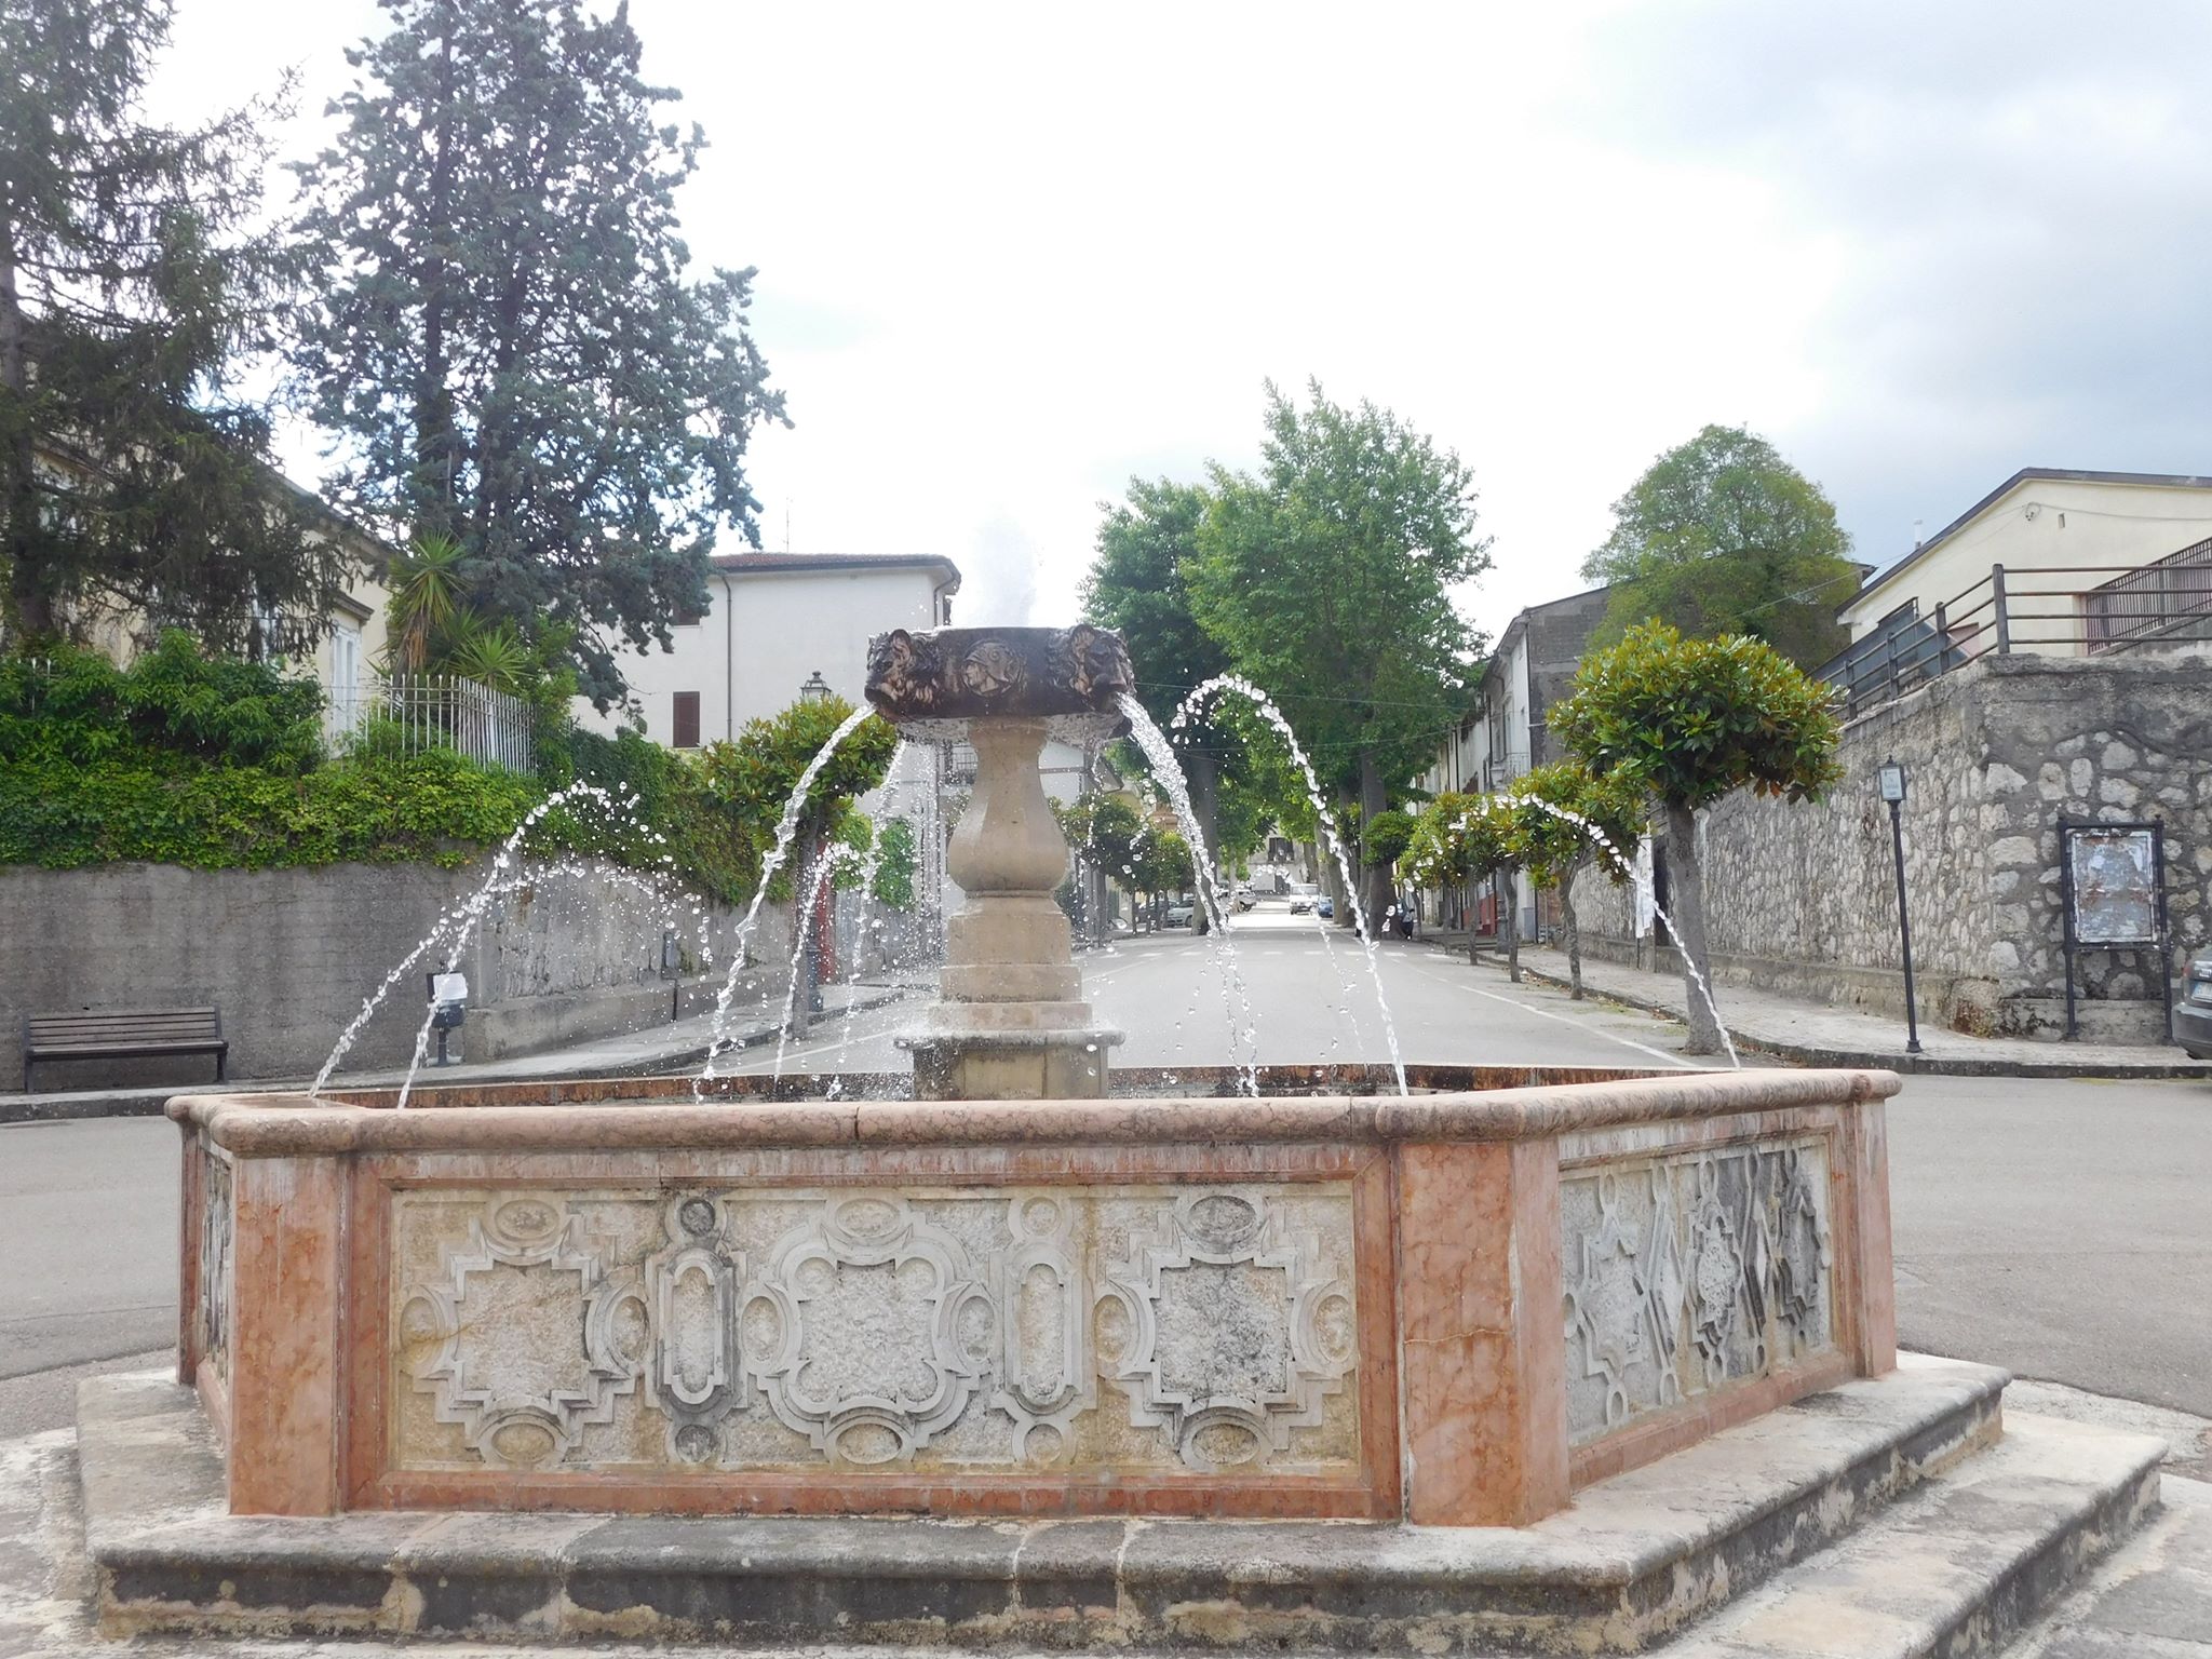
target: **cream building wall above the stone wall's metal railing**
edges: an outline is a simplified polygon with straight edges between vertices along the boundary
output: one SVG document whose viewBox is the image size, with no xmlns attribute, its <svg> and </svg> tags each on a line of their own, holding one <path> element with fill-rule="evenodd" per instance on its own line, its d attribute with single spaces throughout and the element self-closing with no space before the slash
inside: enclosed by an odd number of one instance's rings
<svg viewBox="0 0 2212 1659">
<path fill-rule="evenodd" d="M 2106 577 L 2097 571 L 2130 571 L 2163 560 L 2192 542 L 2212 538 L 2212 489 L 2179 484 L 2112 484 L 2070 478 L 2022 478 L 1980 515 L 1931 546 L 1918 562 L 1876 582 L 1840 613 L 1851 639 L 1867 637 L 1882 617 L 1907 602 L 1918 602 L 1920 619 L 1933 619 L 1938 604 L 1960 595 L 1966 606 L 1989 597 L 1989 568 L 2006 571 L 2008 613 L 2064 613 L 2062 622 L 2033 622 L 2022 615 L 2011 626 L 2015 646 L 2033 646 L 2044 655 L 2079 655 L 2062 635 L 2079 635 L 2079 606 L 2070 595 L 2095 588 Z M 2095 566 L 2093 571 L 2055 571 L 2055 566 Z M 2053 571 L 2037 577 L 2035 571 Z M 2024 591 L 2064 591 L 2064 597 L 2017 597 Z M 1991 611 L 1980 611 L 1962 626 L 1991 626 Z M 1964 644 L 1964 641 L 1962 641 Z M 1969 646 L 1971 650 L 1971 646 Z"/>
</svg>

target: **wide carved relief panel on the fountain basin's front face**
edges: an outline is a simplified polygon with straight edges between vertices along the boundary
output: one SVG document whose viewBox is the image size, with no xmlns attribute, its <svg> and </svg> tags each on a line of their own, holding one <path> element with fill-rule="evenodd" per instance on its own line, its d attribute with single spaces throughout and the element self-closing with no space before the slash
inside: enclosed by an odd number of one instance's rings
<svg viewBox="0 0 2212 1659">
<path fill-rule="evenodd" d="M 394 1469 L 1358 1469 L 1347 1183 L 392 1210 Z"/>
</svg>

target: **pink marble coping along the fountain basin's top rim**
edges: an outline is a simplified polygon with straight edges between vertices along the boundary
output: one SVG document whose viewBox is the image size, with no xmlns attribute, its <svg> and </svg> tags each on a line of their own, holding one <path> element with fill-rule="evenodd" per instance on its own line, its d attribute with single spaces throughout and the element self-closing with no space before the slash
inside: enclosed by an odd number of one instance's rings
<svg viewBox="0 0 2212 1659">
<path fill-rule="evenodd" d="M 1203 1141 L 1524 1141 L 1898 1093 L 1891 1071 L 1712 1071 L 1451 1095 L 695 1104 L 681 1079 L 628 1099 L 387 1110 L 307 1095 L 179 1095 L 168 1115 L 232 1157 L 573 1152 L 763 1146 L 1128 1146 Z M 668 1095 L 679 1099 L 668 1099 Z M 659 1095 L 659 1097 L 657 1097 Z"/>
</svg>

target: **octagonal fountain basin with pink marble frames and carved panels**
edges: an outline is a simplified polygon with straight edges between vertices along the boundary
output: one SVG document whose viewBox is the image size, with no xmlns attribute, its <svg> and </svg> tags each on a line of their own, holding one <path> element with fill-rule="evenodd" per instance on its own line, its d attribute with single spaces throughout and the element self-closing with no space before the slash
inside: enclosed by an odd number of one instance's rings
<svg viewBox="0 0 2212 1659">
<path fill-rule="evenodd" d="M 179 1380 L 232 1513 L 1467 1526 L 1891 1369 L 1893 1075 L 1354 1073 L 179 1097 Z"/>
</svg>

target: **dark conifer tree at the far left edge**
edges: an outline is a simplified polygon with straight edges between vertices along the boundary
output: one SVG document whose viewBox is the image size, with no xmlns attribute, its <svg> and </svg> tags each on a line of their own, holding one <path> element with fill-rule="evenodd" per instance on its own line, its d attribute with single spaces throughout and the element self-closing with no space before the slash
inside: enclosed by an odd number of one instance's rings
<svg viewBox="0 0 2212 1659">
<path fill-rule="evenodd" d="M 168 27 L 168 0 L 0 0 L 0 622 L 126 611 L 281 655 L 345 560 L 239 387 L 283 296 L 257 232 L 274 106 L 146 124 Z"/>
</svg>

